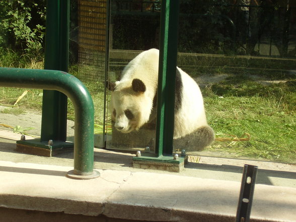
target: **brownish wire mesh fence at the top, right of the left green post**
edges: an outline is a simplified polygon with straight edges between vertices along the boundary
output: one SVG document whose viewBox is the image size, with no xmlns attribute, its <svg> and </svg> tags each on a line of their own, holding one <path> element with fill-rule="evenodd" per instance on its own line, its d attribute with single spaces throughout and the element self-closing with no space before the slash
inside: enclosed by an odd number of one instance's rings
<svg viewBox="0 0 296 222">
<path fill-rule="evenodd" d="M 80 78 L 98 81 L 105 71 L 107 2 L 81 0 L 78 12 Z"/>
</svg>

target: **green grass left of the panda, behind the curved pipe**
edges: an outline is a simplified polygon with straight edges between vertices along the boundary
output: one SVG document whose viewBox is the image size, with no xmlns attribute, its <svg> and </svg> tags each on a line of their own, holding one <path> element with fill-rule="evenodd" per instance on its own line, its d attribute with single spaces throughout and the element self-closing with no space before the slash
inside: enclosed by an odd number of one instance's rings
<svg viewBox="0 0 296 222">
<path fill-rule="evenodd" d="M 42 55 L 39 58 L 31 55 L 19 55 L 11 49 L 0 49 L 0 67 L 17 67 L 17 68 L 32 68 L 43 69 L 44 60 Z M 93 66 L 73 65 L 69 68 L 69 73 L 82 78 L 81 73 L 95 72 Z M 102 79 L 102 78 L 101 78 Z M 103 110 L 104 110 L 104 84 L 101 82 L 85 81 L 84 84 L 90 91 L 95 109 L 95 131 L 103 132 Z M 17 99 L 26 91 L 28 93 L 14 106 Z M 1 113 L 10 113 L 20 115 L 26 112 L 42 111 L 42 90 L 36 89 L 19 89 L 19 88 L 0 88 L 0 105 L 7 106 Z M 68 99 L 68 118 L 71 119 L 75 115 L 72 102 Z"/>
</svg>

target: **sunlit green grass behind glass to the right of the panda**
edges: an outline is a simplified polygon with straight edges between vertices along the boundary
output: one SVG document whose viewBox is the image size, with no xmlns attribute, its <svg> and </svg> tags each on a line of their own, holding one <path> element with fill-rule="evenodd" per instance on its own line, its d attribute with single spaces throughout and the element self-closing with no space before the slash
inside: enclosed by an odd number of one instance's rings
<svg viewBox="0 0 296 222">
<path fill-rule="evenodd" d="M 237 83 L 239 81 L 235 81 Z M 203 91 L 209 124 L 216 137 L 210 151 L 228 157 L 280 162 L 296 160 L 296 81 L 263 86 L 254 81 L 225 81 Z"/>
</svg>

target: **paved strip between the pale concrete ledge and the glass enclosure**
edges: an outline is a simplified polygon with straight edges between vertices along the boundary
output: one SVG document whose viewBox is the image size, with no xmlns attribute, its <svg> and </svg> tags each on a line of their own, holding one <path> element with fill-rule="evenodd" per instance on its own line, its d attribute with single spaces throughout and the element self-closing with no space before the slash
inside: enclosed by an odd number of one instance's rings
<svg viewBox="0 0 296 222">
<path fill-rule="evenodd" d="M 73 153 L 60 154 L 51 158 L 21 154 L 15 151 L 16 143 L 14 139 L 19 139 L 19 135 L 12 133 L 11 131 L 0 130 L 0 161 L 69 167 L 73 166 Z M 27 139 L 29 139 L 29 137 Z M 157 170 L 132 168 L 133 156 L 134 154 L 94 149 L 94 166 L 96 169 L 103 170 L 157 172 L 161 174 L 173 174 L 241 182 L 243 166 L 244 164 L 250 164 L 259 167 L 257 183 L 296 188 L 296 165 L 201 157 L 198 163 L 195 163 L 194 161 L 188 163 L 180 173 L 171 173 Z"/>
</svg>

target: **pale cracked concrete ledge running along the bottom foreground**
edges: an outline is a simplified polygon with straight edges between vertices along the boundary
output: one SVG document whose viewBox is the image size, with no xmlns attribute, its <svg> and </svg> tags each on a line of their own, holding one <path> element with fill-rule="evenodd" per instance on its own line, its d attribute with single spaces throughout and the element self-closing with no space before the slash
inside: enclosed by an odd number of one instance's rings
<svg viewBox="0 0 296 222">
<path fill-rule="evenodd" d="M 239 182 L 115 170 L 79 181 L 65 177 L 71 169 L 0 161 L 0 207 L 144 221 L 236 216 Z M 295 196 L 295 188 L 256 184 L 252 221 L 296 221 Z"/>
</svg>

